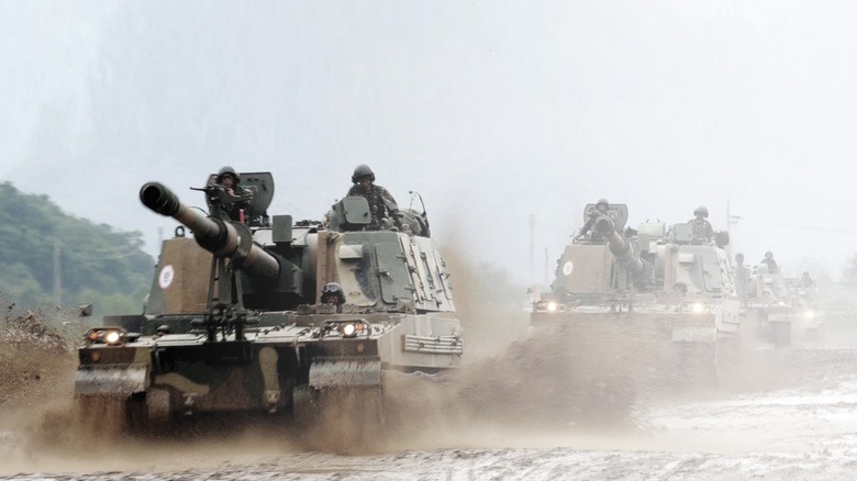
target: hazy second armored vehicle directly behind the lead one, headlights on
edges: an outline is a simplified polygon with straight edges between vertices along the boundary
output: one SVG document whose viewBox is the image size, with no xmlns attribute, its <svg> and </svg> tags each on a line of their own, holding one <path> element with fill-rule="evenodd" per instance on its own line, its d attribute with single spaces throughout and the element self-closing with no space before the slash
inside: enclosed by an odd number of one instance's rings
<svg viewBox="0 0 857 481">
<path fill-rule="evenodd" d="M 585 209 L 592 219 L 593 204 Z M 559 328 L 597 356 L 594 369 L 670 383 L 711 382 L 717 346 L 737 334 L 739 304 L 725 233 L 694 240 L 690 223 L 625 228 L 610 204 L 561 254 L 550 292 L 535 303 L 534 331 Z M 608 353 L 608 354 L 605 354 Z"/>
</svg>

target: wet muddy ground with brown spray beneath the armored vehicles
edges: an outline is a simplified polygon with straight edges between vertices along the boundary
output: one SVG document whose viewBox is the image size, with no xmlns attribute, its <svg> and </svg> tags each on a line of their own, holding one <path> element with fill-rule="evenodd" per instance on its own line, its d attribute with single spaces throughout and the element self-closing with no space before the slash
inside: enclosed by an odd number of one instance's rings
<svg viewBox="0 0 857 481">
<path fill-rule="evenodd" d="M 520 327 L 509 322 L 509 332 Z M 594 353 L 574 354 L 561 335 L 483 338 L 494 344 L 485 351 L 502 355 L 479 356 L 439 380 L 394 380 L 401 389 L 383 441 L 342 449 L 327 443 L 341 426 L 308 439 L 287 417 L 203 420 L 168 437 L 129 438 L 107 436 L 107 413 L 103 425 L 81 432 L 73 346 L 38 327 L 7 328 L 0 479 L 849 479 L 857 471 L 850 334 L 754 348 L 726 382 L 683 390 L 639 371 L 606 387 L 577 382 L 569 372 Z"/>
</svg>

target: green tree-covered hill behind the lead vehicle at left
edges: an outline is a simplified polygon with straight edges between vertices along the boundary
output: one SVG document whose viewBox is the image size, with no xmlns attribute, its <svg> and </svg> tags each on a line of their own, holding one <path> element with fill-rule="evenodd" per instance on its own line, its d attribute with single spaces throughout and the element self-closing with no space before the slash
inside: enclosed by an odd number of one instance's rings
<svg viewBox="0 0 857 481">
<path fill-rule="evenodd" d="M 155 264 L 142 233 L 76 217 L 10 182 L 0 198 L 0 299 L 15 310 L 92 303 L 97 315 L 141 312 Z"/>
</svg>

